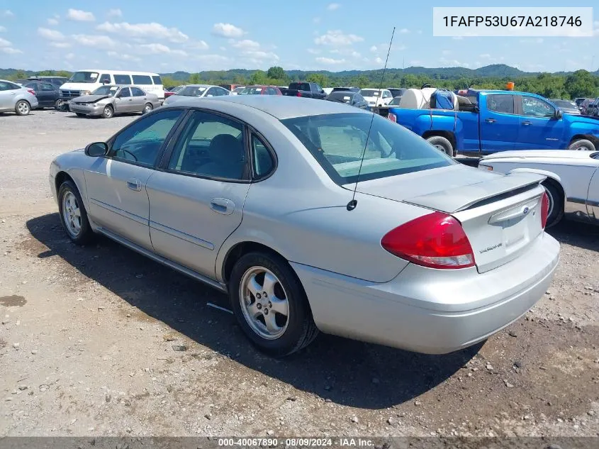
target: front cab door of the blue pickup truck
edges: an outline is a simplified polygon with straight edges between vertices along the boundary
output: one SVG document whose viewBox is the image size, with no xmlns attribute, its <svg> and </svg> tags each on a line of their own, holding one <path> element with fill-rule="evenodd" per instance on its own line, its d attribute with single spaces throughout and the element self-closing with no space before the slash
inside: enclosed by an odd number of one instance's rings
<svg viewBox="0 0 599 449">
<path fill-rule="evenodd" d="M 520 131 L 515 150 L 563 150 L 564 119 L 556 117 L 555 106 L 535 96 L 517 96 L 516 101 Z"/>
</svg>

